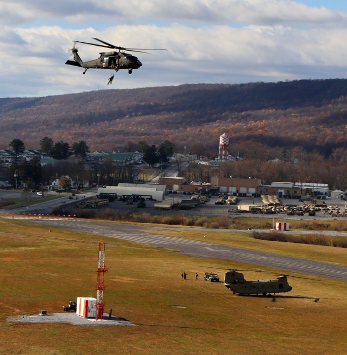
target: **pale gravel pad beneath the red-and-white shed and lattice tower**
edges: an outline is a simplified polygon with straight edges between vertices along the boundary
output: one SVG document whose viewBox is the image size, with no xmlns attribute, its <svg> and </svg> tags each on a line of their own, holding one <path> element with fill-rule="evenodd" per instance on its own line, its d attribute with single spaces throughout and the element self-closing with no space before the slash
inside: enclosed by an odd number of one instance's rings
<svg viewBox="0 0 347 355">
<path fill-rule="evenodd" d="M 135 324 L 123 319 L 112 317 L 108 319 L 108 314 L 103 315 L 103 319 L 95 320 L 94 318 L 84 318 L 76 313 L 52 313 L 47 315 L 33 316 L 10 316 L 6 319 L 8 322 L 21 323 L 71 323 L 74 325 L 127 325 L 135 326 Z"/>
</svg>

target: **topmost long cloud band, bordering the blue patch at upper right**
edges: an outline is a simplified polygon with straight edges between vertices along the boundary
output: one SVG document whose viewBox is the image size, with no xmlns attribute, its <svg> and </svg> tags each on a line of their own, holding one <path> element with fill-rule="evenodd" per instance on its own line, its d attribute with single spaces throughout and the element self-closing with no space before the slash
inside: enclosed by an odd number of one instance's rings
<svg viewBox="0 0 347 355">
<path fill-rule="evenodd" d="M 4 24 L 23 24 L 42 18 L 61 18 L 88 22 L 103 17 L 106 22 L 133 23 L 139 20 L 193 21 L 206 23 L 345 24 L 347 15 L 324 7 L 308 7 L 290 0 L 42 0 L 0 1 L 0 18 Z"/>
</svg>

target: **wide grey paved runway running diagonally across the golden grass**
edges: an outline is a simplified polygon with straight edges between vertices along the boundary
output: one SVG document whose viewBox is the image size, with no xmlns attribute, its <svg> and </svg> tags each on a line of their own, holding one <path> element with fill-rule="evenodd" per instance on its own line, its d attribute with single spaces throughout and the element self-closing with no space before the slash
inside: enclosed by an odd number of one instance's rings
<svg viewBox="0 0 347 355">
<path fill-rule="evenodd" d="M 61 228 L 83 231 L 111 238 L 129 240 L 139 243 L 151 244 L 178 250 L 179 253 L 198 258 L 220 258 L 233 261 L 250 263 L 259 266 L 273 267 L 283 270 L 284 273 L 303 273 L 336 280 L 347 281 L 347 266 L 324 263 L 302 258 L 276 255 L 251 249 L 207 243 L 191 239 L 170 237 L 163 234 L 152 234 L 151 230 L 164 232 L 165 229 L 150 228 L 133 224 L 117 222 L 97 222 L 89 220 L 27 220 L 35 223 L 46 224 Z M 170 230 L 175 227 L 169 228 Z M 216 230 L 219 231 L 220 230 Z M 234 233 L 235 231 L 225 231 Z M 245 232 L 245 231 L 242 231 Z M 203 233 L 203 231 L 202 231 Z"/>
</svg>

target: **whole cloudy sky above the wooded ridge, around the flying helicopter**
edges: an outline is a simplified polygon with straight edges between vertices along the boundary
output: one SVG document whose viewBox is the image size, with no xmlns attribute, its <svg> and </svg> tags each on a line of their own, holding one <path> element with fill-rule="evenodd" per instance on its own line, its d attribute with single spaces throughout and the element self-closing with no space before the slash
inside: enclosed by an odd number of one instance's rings
<svg viewBox="0 0 347 355">
<path fill-rule="evenodd" d="M 0 0 L 0 17 L 0 97 L 347 77 L 345 0 Z M 65 65 L 91 37 L 168 51 L 135 54 L 143 66 L 107 86 L 112 71 Z"/>
</svg>

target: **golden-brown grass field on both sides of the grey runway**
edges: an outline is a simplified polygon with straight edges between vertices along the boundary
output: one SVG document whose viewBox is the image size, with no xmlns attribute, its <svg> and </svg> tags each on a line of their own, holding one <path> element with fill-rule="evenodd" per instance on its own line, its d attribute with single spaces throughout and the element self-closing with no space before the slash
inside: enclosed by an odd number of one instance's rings
<svg viewBox="0 0 347 355">
<path fill-rule="evenodd" d="M 225 233 L 177 233 L 182 238 L 204 237 L 206 241 L 255 249 L 273 247 L 276 253 L 346 263 L 345 250 L 340 252 L 339 248 L 269 244 L 272 242 L 246 234 L 228 233 L 226 238 Z M 205 271 L 211 271 L 202 265 L 230 268 L 229 261 L 202 260 L 113 238 L 104 238 L 108 269 L 105 307 L 112 307 L 114 316 L 137 326 L 81 327 L 6 321 L 8 316 L 33 315 L 41 310 L 62 312 L 62 306 L 70 299 L 95 296 L 99 239 L 100 236 L 87 233 L 55 228 L 49 232 L 49 227 L 0 219 L 0 353 L 346 353 L 345 282 L 295 278 L 290 279 L 294 289 L 287 294 L 238 296 L 222 283 L 209 283 L 202 278 Z M 234 263 L 232 267 L 256 266 Z M 182 271 L 188 274 L 187 280 L 181 280 Z M 218 273 L 223 279 L 223 272 Z M 264 278 L 271 274 L 265 275 Z M 247 273 L 247 279 L 258 278 L 259 273 Z"/>
</svg>

